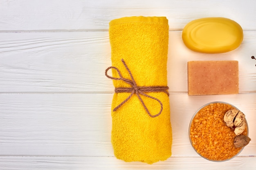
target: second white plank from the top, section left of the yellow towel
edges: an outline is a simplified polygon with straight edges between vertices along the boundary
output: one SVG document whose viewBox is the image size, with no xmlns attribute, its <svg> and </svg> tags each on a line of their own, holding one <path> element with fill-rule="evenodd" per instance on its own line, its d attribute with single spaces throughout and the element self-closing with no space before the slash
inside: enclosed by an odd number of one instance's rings
<svg viewBox="0 0 256 170">
<path fill-rule="evenodd" d="M 0 36 L 0 92 L 109 91 L 112 82 L 105 76 L 111 65 L 108 32 Z"/>
</svg>

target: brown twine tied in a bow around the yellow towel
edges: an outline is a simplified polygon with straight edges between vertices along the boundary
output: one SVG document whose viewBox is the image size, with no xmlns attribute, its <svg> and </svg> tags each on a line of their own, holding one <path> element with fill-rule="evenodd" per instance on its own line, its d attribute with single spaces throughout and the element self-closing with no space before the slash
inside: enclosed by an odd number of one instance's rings
<svg viewBox="0 0 256 170">
<path fill-rule="evenodd" d="M 122 59 L 121 61 L 123 62 L 126 70 L 128 71 L 128 73 L 129 73 L 129 75 L 131 77 L 131 80 L 124 78 L 121 75 L 121 72 L 119 71 L 119 69 L 114 67 L 114 66 L 108 67 L 106 69 L 106 71 L 105 71 L 105 75 L 108 78 L 110 78 L 110 79 L 121 80 L 121 81 L 124 81 L 127 84 L 130 84 L 132 86 L 132 87 L 117 87 L 117 88 L 115 88 L 115 93 L 131 93 L 131 94 L 123 102 L 121 102 L 117 107 L 115 107 L 113 109 L 113 111 L 116 111 L 124 103 L 126 103 L 132 97 L 132 95 L 136 94 L 137 97 L 139 98 L 139 101 L 141 102 L 142 106 L 144 107 L 144 109 L 146 110 L 146 112 L 148 113 L 148 115 L 150 117 L 157 117 L 157 116 L 159 116 L 162 113 L 162 111 L 163 111 L 163 104 L 162 104 L 162 102 L 159 99 L 157 99 L 155 97 L 152 97 L 150 95 L 147 95 L 145 93 L 148 93 L 148 92 L 164 92 L 164 93 L 166 93 L 169 96 L 169 93 L 167 91 L 169 89 L 168 86 L 137 86 L 137 83 L 135 82 L 130 69 L 128 68 L 128 66 L 124 62 L 124 59 Z M 108 75 L 108 70 L 110 70 L 112 68 L 117 71 L 117 73 L 119 74 L 119 78 L 111 77 L 111 76 Z M 144 101 L 141 99 L 140 95 L 144 95 L 144 96 L 146 96 L 146 97 L 148 97 L 150 99 L 154 99 L 154 100 L 156 100 L 160 104 L 161 109 L 160 109 L 160 111 L 159 111 L 159 113 L 157 115 L 151 115 L 150 114 L 150 112 L 148 111 L 148 108 L 146 107 Z"/>
</svg>

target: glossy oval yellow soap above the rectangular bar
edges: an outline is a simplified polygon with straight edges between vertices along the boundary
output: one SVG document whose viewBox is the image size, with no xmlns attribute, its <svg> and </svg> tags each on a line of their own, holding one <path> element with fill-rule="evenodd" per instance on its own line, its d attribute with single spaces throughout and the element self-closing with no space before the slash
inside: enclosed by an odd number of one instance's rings
<svg viewBox="0 0 256 170">
<path fill-rule="evenodd" d="M 184 27 L 182 40 L 193 51 L 225 53 L 240 46 L 243 41 L 243 29 L 237 22 L 228 18 L 200 18 Z"/>
</svg>

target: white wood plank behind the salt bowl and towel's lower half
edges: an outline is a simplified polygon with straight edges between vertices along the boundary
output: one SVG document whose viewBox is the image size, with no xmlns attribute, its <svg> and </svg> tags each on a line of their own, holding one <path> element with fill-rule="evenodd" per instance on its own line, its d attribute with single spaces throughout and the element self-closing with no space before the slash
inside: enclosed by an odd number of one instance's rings
<svg viewBox="0 0 256 170">
<path fill-rule="evenodd" d="M 245 113 L 250 144 L 240 156 L 256 156 L 256 94 L 170 95 L 173 157 L 196 157 L 188 129 L 195 111 L 214 101 Z M 112 94 L 1 94 L 0 155 L 114 156 Z"/>
</svg>

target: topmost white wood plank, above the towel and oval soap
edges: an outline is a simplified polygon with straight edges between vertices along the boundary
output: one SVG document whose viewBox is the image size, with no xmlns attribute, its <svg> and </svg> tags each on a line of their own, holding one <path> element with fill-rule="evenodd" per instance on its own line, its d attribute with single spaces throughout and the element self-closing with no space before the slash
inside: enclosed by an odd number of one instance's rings
<svg viewBox="0 0 256 170">
<path fill-rule="evenodd" d="M 171 30 L 191 20 L 226 17 L 243 29 L 256 28 L 254 0 L 8 0 L 0 2 L 0 30 L 108 29 L 109 22 L 126 16 L 166 16 Z"/>
</svg>

